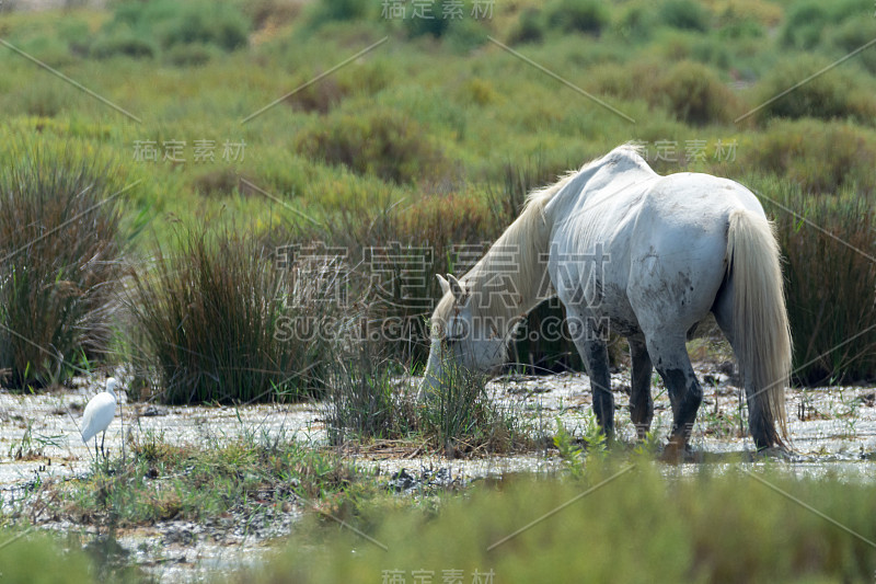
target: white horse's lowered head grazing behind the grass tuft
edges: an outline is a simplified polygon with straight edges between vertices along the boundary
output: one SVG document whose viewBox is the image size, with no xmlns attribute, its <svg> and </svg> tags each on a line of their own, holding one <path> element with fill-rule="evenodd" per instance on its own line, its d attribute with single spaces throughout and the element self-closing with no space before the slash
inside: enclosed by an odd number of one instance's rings
<svg viewBox="0 0 876 584">
<path fill-rule="evenodd" d="M 438 275 L 443 296 L 429 322 L 431 348 L 417 397 L 445 389 L 448 375 L 462 367 L 488 373 L 505 360 L 505 331 L 479 310 L 479 293 L 448 274 Z"/>
</svg>

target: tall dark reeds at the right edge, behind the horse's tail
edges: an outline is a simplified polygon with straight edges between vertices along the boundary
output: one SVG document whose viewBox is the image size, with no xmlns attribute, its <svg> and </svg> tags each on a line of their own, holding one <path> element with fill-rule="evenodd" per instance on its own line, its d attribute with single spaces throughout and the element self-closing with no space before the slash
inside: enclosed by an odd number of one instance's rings
<svg viewBox="0 0 876 584">
<path fill-rule="evenodd" d="M 876 378 L 876 210 L 852 188 L 788 188 L 764 202 L 787 257 L 795 377 L 805 385 Z M 805 219 L 804 219 L 805 218 Z"/>
</svg>

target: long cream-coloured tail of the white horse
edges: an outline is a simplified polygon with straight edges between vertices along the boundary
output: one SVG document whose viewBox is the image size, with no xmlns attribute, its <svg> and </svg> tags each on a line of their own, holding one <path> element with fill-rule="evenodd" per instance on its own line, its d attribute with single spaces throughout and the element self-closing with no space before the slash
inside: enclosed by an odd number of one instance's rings
<svg viewBox="0 0 876 584">
<path fill-rule="evenodd" d="M 734 350 L 746 382 L 749 428 L 758 448 L 783 446 L 775 423 L 781 437 L 787 438 L 791 328 L 773 225 L 761 215 L 733 210 L 727 259 L 733 276 Z"/>
</svg>

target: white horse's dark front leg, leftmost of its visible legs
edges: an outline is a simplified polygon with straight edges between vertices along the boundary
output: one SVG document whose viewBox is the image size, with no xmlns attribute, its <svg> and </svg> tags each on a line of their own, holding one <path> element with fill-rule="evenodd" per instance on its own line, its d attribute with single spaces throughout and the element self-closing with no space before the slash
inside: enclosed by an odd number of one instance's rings
<svg viewBox="0 0 876 584">
<path fill-rule="evenodd" d="M 589 319 L 580 316 L 577 319 L 569 319 L 569 332 L 581 355 L 587 376 L 590 378 L 597 422 L 606 437 L 612 438 L 614 436 L 614 396 L 611 393 L 609 352 L 606 340 Z"/>
</svg>

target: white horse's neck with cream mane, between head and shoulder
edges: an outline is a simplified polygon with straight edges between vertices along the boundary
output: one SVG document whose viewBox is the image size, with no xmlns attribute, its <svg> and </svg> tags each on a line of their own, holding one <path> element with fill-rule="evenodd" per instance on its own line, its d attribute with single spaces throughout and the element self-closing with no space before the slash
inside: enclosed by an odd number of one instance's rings
<svg viewBox="0 0 876 584">
<path fill-rule="evenodd" d="M 465 275 L 473 314 L 494 323 L 503 336 L 552 295 L 546 272 L 550 234 L 544 203 L 533 202 Z"/>
</svg>

